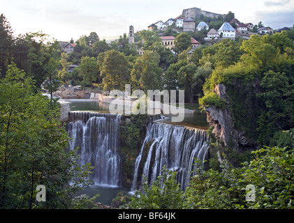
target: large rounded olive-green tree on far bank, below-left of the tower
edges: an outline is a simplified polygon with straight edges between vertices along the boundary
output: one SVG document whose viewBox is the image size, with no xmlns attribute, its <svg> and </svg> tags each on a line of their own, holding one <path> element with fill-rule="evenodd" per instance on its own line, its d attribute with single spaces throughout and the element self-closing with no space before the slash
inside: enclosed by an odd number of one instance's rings
<svg viewBox="0 0 294 223">
<path fill-rule="evenodd" d="M 103 53 L 103 63 L 100 66 L 102 86 L 105 90 L 122 90 L 124 85 L 129 83 L 130 74 L 128 71 L 128 61 L 123 53 L 112 49 Z"/>
</svg>

